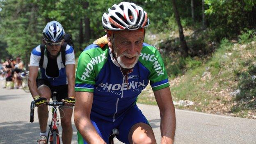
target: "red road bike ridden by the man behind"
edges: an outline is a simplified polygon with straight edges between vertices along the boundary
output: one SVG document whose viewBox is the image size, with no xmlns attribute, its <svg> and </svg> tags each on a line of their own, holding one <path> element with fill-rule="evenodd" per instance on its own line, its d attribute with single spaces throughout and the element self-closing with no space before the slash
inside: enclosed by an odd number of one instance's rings
<svg viewBox="0 0 256 144">
<path fill-rule="evenodd" d="M 56 101 L 56 94 L 57 92 L 53 92 L 52 100 L 53 102 L 47 103 L 47 105 L 50 105 L 50 109 L 52 111 L 52 120 L 49 125 L 49 131 L 48 131 L 48 136 L 47 136 L 47 143 L 50 142 L 49 144 L 60 144 L 60 138 L 59 138 L 59 117 L 57 114 L 57 110 L 59 109 L 60 106 L 64 105 L 63 102 L 57 102 Z M 34 121 L 34 107 L 35 103 L 34 101 L 31 102 L 30 105 L 30 122 L 32 123 Z M 59 109 L 61 110 L 61 109 Z"/>
</svg>

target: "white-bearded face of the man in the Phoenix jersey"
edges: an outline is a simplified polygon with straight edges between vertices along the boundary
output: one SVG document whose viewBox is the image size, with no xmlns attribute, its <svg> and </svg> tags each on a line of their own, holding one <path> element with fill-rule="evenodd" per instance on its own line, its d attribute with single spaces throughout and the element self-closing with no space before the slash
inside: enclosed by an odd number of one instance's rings
<svg viewBox="0 0 256 144">
<path fill-rule="evenodd" d="M 142 50 L 143 40 L 144 33 L 141 30 L 114 33 L 112 49 L 121 67 L 131 69 L 135 66 Z"/>
</svg>

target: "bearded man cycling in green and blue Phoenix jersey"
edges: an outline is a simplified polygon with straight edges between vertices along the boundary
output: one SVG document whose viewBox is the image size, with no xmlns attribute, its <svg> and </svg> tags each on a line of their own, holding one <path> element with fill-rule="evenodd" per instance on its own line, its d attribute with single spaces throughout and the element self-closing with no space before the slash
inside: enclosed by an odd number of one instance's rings
<svg viewBox="0 0 256 144">
<path fill-rule="evenodd" d="M 147 13 L 121 2 L 104 13 L 107 36 L 81 53 L 75 76 L 75 126 L 79 144 L 105 144 L 113 128 L 126 144 L 155 144 L 149 122 L 136 105 L 149 84 L 161 116 L 161 143 L 172 144 L 176 118 L 165 66 L 158 50 L 143 43 Z"/>
</svg>

